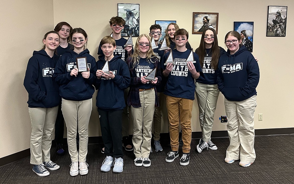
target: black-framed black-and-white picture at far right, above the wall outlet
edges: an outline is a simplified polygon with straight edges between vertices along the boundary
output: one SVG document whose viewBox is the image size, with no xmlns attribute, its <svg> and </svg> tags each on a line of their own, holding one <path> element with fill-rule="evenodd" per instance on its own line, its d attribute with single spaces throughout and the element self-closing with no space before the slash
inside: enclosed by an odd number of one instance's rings
<svg viewBox="0 0 294 184">
<path fill-rule="evenodd" d="M 288 6 L 268 6 L 267 37 L 285 37 Z"/>
</svg>

